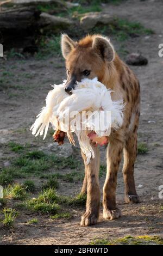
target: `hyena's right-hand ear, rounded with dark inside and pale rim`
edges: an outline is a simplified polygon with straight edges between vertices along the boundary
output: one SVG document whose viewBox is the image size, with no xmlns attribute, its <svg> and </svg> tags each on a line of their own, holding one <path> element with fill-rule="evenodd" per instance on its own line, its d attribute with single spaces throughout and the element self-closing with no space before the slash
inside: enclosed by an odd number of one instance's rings
<svg viewBox="0 0 163 256">
<path fill-rule="evenodd" d="M 97 36 L 93 40 L 92 47 L 96 50 L 96 52 L 99 53 L 99 55 L 101 55 L 103 59 L 106 59 L 109 62 L 112 62 L 112 60 L 114 60 L 115 52 L 109 39 Z"/>
</svg>

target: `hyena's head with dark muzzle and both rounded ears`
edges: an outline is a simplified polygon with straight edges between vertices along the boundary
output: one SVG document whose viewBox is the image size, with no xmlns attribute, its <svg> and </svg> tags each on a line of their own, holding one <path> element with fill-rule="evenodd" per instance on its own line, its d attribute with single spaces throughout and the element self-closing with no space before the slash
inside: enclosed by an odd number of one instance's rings
<svg viewBox="0 0 163 256">
<path fill-rule="evenodd" d="M 61 37 L 62 55 L 66 60 L 67 81 L 65 90 L 71 93 L 76 82 L 83 78 L 97 77 L 105 83 L 109 75 L 109 65 L 115 52 L 108 38 L 102 35 L 87 35 L 76 42 L 63 34 Z"/>
</svg>

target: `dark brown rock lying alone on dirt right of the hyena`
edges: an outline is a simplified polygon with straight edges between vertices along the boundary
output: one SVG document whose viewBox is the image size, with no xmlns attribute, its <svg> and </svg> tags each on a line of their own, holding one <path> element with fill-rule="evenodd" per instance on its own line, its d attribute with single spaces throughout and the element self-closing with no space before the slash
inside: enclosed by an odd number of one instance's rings
<svg viewBox="0 0 163 256">
<path fill-rule="evenodd" d="M 133 66 L 147 65 L 148 59 L 140 53 L 130 53 L 127 56 L 126 63 Z"/>
</svg>

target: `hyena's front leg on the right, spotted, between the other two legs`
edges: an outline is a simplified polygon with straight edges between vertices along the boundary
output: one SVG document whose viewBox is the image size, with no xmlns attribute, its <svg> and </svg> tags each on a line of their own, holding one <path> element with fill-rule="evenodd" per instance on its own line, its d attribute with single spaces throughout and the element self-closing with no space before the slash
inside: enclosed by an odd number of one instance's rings
<svg viewBox="0 0 163 256">
<path fill-rule="evenodd" d="M 103 187 L 103 217 L 114 220 L 121 216 L 121 211 L 116 208 L 117 172 L 122 157 L 123 145 L 121 142 L 110 142 L 107 150 L 107 173 Z"/>
</svg>

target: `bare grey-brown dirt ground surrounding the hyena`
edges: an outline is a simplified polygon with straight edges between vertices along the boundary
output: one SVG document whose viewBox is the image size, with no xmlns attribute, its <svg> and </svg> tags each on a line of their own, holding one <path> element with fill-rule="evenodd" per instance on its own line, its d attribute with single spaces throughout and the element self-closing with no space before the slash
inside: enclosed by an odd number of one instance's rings
<svg viewBox="0 0 163 256">
<path fill-rule="evenodd" d="M 125 17 L 130 21 L 139 21 L 154 34 L 131 38 L 126 45 L 129 52 L 140 51 L 149 60 L 147 66 L 131 67 L 139 77 L 141 84 L 141 116 L 139 141 L 146 142 L 148 153 L 138 155 L 135 164 L 135 183 L 142 203 L 127 205 L 123 201 L 123 178 L 118 173 L 117 205 L 123 216 L 118 220 L 104 221 L 102 207 L 99 223 L 91 227 L 80 227 L 80 216 L 84 208 L 73 209 L 72 220 L 52 221 L 48 216 L 37 216 L 39 223 L 26 225 L 28 215 L 23 213 L 16 220 L 12 230 L 0 230 L 0 244 L 14 245 L 86 245 L 93 239 L 112 239 L 125 235 L 163 235 L 163 216 L 159 199 L 159 186 L 163 185 L 163 135 L 162 135 L 162 69 L 163 58 L 158 56 L 158 45 L 163 42 L 162 1 L 126 1 L 120 5 L 105 5 L 104 11 L 110 15 Z M 116 44 L 116 42 L 115 42 Z M 0 69 L 14 73 L 10 79 L 19 85 L 10 93 L 0 92 L 0 155 L 1 166 L 5 157 L 3 145 L 9 141 L 28 142 L 33 147 L 45 147 L 52 143 L 48 137 L 30 135 L 30 125 L 43 106 L 49 84 L 59 83 L 65 78 L 64 61 L 61 58 L 47 60 L 8 60 L 0 62 Z M 21 89 L 19 89 L 21 88 Z M 79 149 L 77 149 L 79 151 Z M 102 163 L 105 163 L 105 150 L 101 148 Z M 104 176 L 100 179 L 101 191 Z M 142 185 L 141 188 L 138 187 Z M 82 181 L 74 184 L 62 184 L 58 193 L 73 195 L 80 191 Z"/>
</svg>

